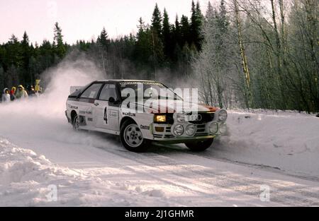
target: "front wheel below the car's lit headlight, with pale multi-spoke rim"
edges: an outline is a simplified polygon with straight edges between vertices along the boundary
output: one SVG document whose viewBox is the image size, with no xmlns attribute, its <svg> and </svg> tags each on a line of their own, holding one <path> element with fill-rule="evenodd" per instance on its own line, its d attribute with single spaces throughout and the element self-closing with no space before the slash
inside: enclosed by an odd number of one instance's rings
<svg viewBox="0 0 319 221">
<path fill-rule="evenodd" d="M 130 131 L 131 130 L 131 131 Z M 121 126 L 120 139 L 123 146 L 132 152 L 142 153 L 150 146 L 150 141 L 142 137 L 138 124 L 125 121 Z"/>
</svg>

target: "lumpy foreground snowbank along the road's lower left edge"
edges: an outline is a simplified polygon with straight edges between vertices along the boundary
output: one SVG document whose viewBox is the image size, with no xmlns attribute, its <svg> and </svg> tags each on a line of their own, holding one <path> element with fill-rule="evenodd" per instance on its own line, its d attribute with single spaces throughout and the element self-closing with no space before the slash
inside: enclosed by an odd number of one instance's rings
<svg viewBox="0 0 319 221">
<path fill-rule="evenodd" d="M 4 138 L 0 138 L 0 198 L 0 206 L 170 205 L 161 189 L 60 167 Z"/>
</svg>

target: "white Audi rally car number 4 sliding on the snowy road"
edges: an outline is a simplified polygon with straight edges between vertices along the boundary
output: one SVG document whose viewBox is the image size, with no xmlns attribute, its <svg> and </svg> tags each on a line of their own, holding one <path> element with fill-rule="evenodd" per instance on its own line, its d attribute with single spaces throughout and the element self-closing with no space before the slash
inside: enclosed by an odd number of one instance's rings
<svg viewBox="0 0 319 221">
<path fill-rule="evenodd" d="M 226 131 L 224 109 L 186 102 L 155 81 L 96 80 L 71 88 L 77 90 L 67 98 L 65 114 L 73 129 L 118 135 L 133 152 L 145 151 L 151 141 L 206 150 Z"/>
</svg>

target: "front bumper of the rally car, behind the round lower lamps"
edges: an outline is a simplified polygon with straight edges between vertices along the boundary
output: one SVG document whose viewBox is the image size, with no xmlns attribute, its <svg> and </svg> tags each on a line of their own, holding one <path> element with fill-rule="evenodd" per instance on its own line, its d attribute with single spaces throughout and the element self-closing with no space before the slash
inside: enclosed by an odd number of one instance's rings
<svg viewBox="0 0 319 221">
<path fill-rule="evenodd" d="M 223 133 L 220 132 L 221 126 L 226 126 L 225 122 L 216 122 L 218 124 L 218 132 L 210 133 L 209 124 L 196 124 L 196 132 L 193 136 L 187 136 L 183 134 L 182 136 L 174 136 L 172 133 L 172 124 L 151 124 L 150 130 L 153 136 L 153 141 L 162 141 L 165 143 L 184 143 L 187 141 L 201 141 L 210 138 L 216 138 L 216 136 L 222 136 Z M 164 128 L 159 131 L 159 128 Z"/>
</svg>

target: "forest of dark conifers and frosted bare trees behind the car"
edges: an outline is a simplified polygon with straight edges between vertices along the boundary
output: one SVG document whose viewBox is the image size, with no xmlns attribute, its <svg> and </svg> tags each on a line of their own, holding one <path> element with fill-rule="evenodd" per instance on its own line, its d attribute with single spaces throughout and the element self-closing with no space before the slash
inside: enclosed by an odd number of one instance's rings
<svg viewBox="0 0 319 221">
<path fill-rule="evenodd" d="M 190 1 L 189 18 L 155 5 L 150 23 L 140 18 L 136 34 L 115 39 L 102 27 L 96 40 L 67 44 L 58 23 L 52 41 L 11 35 L 0 44 L 0 88 L 33 85 L 84 54 L 107 79 L 188 82 L 216 107 L 319 112 L 319 1 L 211 1 L 206 11 Z"/>
</svg>

